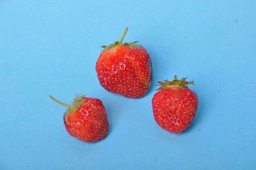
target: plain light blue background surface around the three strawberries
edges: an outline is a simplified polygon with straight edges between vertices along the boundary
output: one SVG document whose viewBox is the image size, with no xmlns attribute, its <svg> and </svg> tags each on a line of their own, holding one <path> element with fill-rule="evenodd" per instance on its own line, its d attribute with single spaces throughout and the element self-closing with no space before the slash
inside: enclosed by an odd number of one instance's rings
<svg viewBox="0 0 256 170">
<path fill-rule="evenodd" d="M 0 170 L 256 169 L 256 1 L 0 0 Z M 146 96 L 104 90 L 101 45 L 139 39 L 153 63 Z M 198 114 L 161 129 L 156 81 L 188 76 Z M 99 98 L 110 130 L 84 143 L 63 126 L 76 92 Z M 240 131 L 240 133 L 238 132 Z"/>
</svg>

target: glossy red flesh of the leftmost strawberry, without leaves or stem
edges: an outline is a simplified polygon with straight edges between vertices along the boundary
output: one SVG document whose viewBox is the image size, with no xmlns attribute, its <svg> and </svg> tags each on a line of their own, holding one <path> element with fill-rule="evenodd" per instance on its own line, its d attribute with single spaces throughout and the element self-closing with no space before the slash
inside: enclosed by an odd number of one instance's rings
<svg viewBox="0 0 256 170">
<path fill-rule="evenodd" d="M 75 138 L 93 143 L 104 139 L 108 133 L 108 117 L 103 103 L 97 98 L 82 98 L 85 102 L 76 112 L 71 112 L 64 124 Z M 65 113 L 64 113 L 65 115 Z"/>
</svg>

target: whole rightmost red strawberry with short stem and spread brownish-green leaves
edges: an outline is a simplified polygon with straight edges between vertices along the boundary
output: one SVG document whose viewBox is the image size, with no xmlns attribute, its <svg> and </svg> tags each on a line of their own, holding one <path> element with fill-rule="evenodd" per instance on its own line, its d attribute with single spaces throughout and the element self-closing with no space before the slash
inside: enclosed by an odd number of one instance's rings
<svg viewBox="0 0 256 170">
<path fill-rule="evenodd" d="M 157 92 L 152 98 L 153 114 L 157 124 L 169 132 L 181 133 L 189 127 L 198 110 L 198 97 L 189 87 L 193 81 L 186 78 L 159 81 Z"/>
</svg>

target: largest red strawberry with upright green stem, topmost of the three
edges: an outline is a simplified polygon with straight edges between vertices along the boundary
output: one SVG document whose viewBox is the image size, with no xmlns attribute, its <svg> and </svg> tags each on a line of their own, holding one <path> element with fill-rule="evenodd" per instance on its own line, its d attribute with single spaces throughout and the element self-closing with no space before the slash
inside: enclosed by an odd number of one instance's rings
<svg viewBox="0 0 256 170">
<path fill-rule="evenodd" d="M 152 63 L 142 45 L 120 40 L 103 47 L 96 63 L 96 72 L 102 87 L 112 93 L 130 98 L 144 96 L 152 81 Z"/>
</svg>

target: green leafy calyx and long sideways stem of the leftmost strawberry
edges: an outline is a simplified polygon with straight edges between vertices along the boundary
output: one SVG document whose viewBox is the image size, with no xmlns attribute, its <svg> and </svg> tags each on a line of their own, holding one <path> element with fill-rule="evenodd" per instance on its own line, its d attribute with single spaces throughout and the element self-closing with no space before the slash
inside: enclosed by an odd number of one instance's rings
<svg viewBox="0 0 256 170">
<path fill-rule="evenodd" d="M 68 105 L 68 104 L 65 104 L 65 103 L 62 103 L 58 100 L 56 100 L 55 98 L 53 98 L 51 95 L 49 95 L 49 97 L 57 102 L 58 104 L 60 105 L 63 105 L 63 106 L 66 106 L 68 107 L 68 109 L 66 110 L 65 114 L 64 114 L 64 118 L 65 118 L 65 121 L 67 122 L 68 120 L 68 116 L 70 115 L 71 112 L 76 112 L 77 111 L 77 107 L 80 107 L 80 105 L 82 105 L 84 103 L 84 100 L 83 100 L 83 97 L 86 95 L 80 95 L 80 94 L 76 94 L 76 97 L 73 99 L 73 102 L 71 105 Z"/>
</svg>

